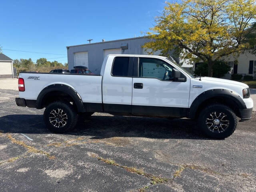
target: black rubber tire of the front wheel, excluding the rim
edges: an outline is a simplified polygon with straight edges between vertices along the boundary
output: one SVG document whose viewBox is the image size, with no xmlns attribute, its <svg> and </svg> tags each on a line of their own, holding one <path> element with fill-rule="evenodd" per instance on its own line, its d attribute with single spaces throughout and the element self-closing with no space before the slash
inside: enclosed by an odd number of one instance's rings
<svg viewBox="0 0 256 192">
<path fill-rule="evenodd" d="M 223 112 L 227 116 L 227 119 L 229 120 L 229 125 L 224 132 L 218 133 L 209 130 L 208 126 L 206 125 L 206 118 L 208 118 L 210 113 L 212 112 L 216 112 L 217 114 Z M 234 132 L 234 129 L 236 128 L 236 119 L 234 119 L 234 113 L 232 112 L 232 110 L 230 110 L 230 108 L 222 105 L 212 105 L 202 110 L 198 118 L 198 121 L 198 124 L 202 131 L 204 132 L 204 134 L 211 138 L 226 138 L 230 136 Z"/>
</svg>

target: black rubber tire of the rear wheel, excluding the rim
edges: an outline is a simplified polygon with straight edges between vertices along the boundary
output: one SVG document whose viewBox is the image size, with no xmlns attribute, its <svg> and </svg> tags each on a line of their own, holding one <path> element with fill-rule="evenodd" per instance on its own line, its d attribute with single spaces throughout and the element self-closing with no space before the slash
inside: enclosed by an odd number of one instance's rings
<svg viewBox="0 0 256 192">
<path fill-rule="evenodd" d="M 62 109 L 67 114 L 67 117 L 68 117 L 67 123 L 60 128 L 53 126 L 49 121 L 50 112 L 58 108 Z M 74 110 L 72 110 L 71 104 L 69 105 L 64 102 L 53 102 L 49 104 L 44 111 L 44 122 L 48 130 L 56 133 L 64 133 L 72 128 L 73 126 L 72 124 L 74 124 L 73 121 L 75 120 L 75 115 L 76 114 L 74 114 Z"/>
</svg>

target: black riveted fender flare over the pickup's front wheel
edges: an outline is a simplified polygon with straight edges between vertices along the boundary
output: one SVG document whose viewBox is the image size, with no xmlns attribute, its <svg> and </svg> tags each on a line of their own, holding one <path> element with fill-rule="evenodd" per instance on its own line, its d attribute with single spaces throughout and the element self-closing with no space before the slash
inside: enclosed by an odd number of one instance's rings
<svg viewBox="0 0 256 192">
<path fill-rule="evenodd" d="M 228 98 L 232 100 L 234 103 L 236 103 L 238 108 L 246 109 L 246 104 L 244 103 L 243 99 L 233 91 L 227 89 L 211 89 L 201 93 L 192 102 L 188 110 L 188 118 L 194 118 L 196 116 L 196 111 L 198 110 L 200 104 L 202 104 L 202 102 L 204 102 L 205 100 L 214 97 Z"/>
</svg>

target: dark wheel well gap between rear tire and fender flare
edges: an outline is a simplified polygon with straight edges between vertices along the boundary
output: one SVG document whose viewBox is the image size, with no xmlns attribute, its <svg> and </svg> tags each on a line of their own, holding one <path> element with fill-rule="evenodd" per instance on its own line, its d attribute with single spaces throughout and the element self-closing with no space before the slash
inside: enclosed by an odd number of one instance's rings
<svg viewBox="0 0 256 192">
<path fill-rule="evenodd" d="M 63 102 L 71 103 L 77 111 L 77 106 L 76 106 L 73 98 L 69 94 L 62 92 L 62 91 L 48 92 L 42 99 L 42 107 L 46 107 L 50 103 L 55 102 L 55 101 L 63 101 Z"/>
</svg>

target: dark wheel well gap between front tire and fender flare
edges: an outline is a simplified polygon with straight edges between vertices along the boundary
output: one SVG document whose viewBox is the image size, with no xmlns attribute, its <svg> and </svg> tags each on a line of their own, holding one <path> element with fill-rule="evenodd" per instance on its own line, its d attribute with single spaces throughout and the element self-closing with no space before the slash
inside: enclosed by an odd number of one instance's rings
<svg viewBox="0 0 256 192">
<path fill-rule="evenodd" d="M 230 109 L 232 109 L 234 111 L 236 116 L 238 116 L 238 117 L 240 116 L 240 112 L 238 110 L 239 109 L 238 105 L 232 99 L 227 98 L 227 97 L 213 97 L 213 98 L 206 99 L 204 102 L 202 102 L 198 106 L 198 108 L 196 110 L 195 118 L 198 118 L 198 115 L 200 114 L 202 109 L 206 108 L 206 106 L 209 106 L 211 104 L 223 104 L 223 105 L 226 105 L 226 106 L 228 106 Z"/>
</svg>

